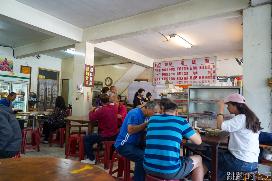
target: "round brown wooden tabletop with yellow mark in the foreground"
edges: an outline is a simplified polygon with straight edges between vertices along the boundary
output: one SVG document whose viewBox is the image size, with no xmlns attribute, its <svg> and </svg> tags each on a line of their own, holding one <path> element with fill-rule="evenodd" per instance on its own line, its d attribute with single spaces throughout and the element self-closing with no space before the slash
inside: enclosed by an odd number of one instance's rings
<svg viewBox="0 0 272 181">
<path fill-rule="evenodd" d="M 94 165 L 69 159 L 11 158 L 0 159 L 0 163 L 0 180 L 115 180 Z"/>
</svg>

